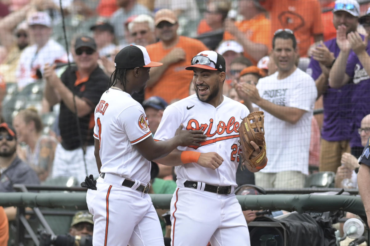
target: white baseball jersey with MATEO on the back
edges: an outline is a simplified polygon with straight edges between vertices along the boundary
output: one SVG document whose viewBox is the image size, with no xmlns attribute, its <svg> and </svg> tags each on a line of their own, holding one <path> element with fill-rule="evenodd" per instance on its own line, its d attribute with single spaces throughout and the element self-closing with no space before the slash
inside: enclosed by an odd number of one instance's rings
<svg viewBox="0 0 370 246">
<path fill-rule="evenodd" d="M 150 161 L 133 146 L 152 134 L 140 103 L 128 93 L 110 88 L 94 112 L 94 137 L 100 140 L 100 171 L 148 183 Z"/>
</svg>

